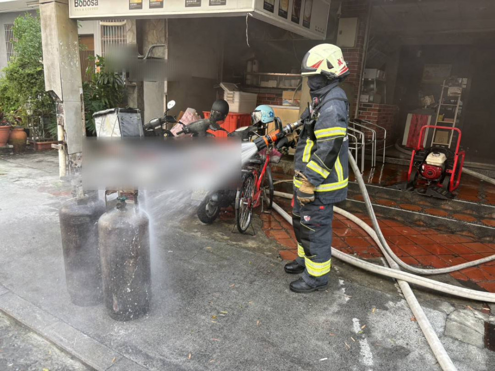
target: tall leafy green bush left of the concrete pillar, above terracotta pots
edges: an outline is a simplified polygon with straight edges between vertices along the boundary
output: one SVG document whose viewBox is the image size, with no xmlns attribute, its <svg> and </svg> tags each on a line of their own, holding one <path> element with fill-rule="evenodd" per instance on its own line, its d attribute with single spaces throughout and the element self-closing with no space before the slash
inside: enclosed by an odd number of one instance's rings
<svg viewBox="0 0 495 371">
<path fill-rule="evenodd" d="M 13 35 L 14 55 L 1 71 L 0 111 L 7 121 L 25 125 L 28 116 L 47 116 L 55 108 L 45 91 L 39 13 L 17 17 Z"/>
</svg>

